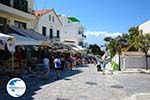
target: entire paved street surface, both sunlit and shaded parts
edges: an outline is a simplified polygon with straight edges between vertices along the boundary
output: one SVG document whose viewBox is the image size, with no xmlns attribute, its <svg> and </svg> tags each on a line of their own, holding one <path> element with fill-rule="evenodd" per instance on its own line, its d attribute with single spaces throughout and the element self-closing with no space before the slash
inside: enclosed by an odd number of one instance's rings
<svg viewBox="0 0 150 100">
<path fill-rule="evenodd" d="M 150 74 L 106 74 L 93 65 L 63 72 L 56 80 L 52 71 L 50 80 L 28 79 L 27 92 L 22 100 L 149 100 Z M 29 87 L 30 86 L 30 87 Z M 136 96 L 136 95 L 141 96 Z M 136 95 L 134 95 L 136 94 Z M 12 99 L 8 97 L 9 99 Z M 149 98 L 149 99 L 147 99 Z M 3 99 L 0 99 L 3 100 Z"/>
</svg>

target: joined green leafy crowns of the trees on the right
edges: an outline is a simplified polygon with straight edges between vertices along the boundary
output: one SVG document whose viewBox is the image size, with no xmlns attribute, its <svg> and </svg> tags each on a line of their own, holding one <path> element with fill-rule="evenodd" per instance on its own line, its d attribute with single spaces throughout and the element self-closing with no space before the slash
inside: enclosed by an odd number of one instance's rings
<svg viewBox="0 0 150 100">
<path fill-rule="evenodd" d="M 108 48 L 114 56 L 117 52 L 121 53 L 121 48 L 130 46 L 130 50 L 142 50 L 147 53 L 150 49 L 150 34 L 143 34 L 139 27 L 131 27 L 128 33 L 123 33 L 116 38 L 105 37 L 104 41 L 108 43 Z"/>
</svg>

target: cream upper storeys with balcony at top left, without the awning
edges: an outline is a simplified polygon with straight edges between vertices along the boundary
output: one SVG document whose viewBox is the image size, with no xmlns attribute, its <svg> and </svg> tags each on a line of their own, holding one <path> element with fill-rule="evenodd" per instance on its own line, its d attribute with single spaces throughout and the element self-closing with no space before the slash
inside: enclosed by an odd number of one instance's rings
<svg viewBox="0 0 150 100">
<path fill-rule="evenodd" d="M 35 16 L 32 14 L 33 0 L 0 0 L 0 32 L 7 26 L 32 29 Z"/>
</svg>

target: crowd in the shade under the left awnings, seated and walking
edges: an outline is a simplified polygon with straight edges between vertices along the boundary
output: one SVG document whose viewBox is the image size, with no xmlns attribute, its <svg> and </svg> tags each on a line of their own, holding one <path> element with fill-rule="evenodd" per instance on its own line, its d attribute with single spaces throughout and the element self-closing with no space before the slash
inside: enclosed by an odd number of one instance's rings
<svg viewBox="0 0 150 100">
<path fill-rule="evenodd" d="M 80 53 L 60 52 L 47 48 L 34 48 L 28 50 L 24 47 L 16 47 L 15 66 L 25 67 L 29 72 L 36 72 L 38 66 L 42 68 L 44 76 L 48 79 L 51 69 L 55 69 L 57 79 L 64 68 L 72 69 L 82 64 L 82 56 Z"/>
</svg>

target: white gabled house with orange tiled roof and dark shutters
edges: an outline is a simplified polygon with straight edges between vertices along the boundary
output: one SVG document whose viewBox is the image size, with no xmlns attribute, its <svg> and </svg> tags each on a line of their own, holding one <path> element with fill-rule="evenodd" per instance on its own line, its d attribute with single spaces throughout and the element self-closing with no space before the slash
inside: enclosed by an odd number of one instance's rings
<svg viewBox="0 0 150 100">
<path fill-rule="evenodd" d="M 59 42 L 62 23 L 54 9 L 37 10 L 34 14 L 37 17 L 35 31 L 48 37 L 52 42 Z"/>
</svg>

